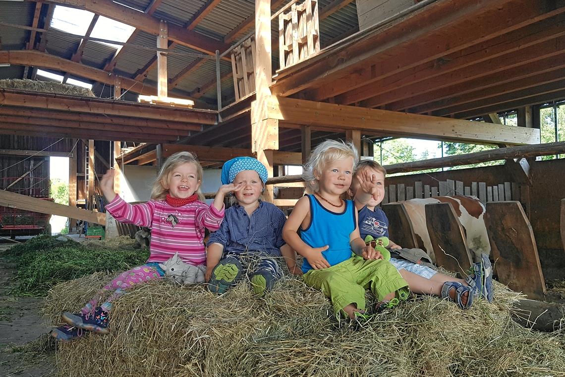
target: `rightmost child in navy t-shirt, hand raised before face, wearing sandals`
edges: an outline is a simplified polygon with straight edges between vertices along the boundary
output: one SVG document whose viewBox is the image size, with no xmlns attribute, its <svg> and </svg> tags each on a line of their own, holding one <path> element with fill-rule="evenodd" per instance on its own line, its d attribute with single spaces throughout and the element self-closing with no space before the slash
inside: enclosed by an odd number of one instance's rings
<svg viewBox="0 0 565 377">
<path fill-rule="evenodd" d="M 384 211 L 376 207 L 384 198 L 385 174 L 385 169 L 379 163 L 364 160 L 357 165 L 351 182 L 349 193 L 355 198 L 355 206 L 359 211 L 359 232 L 366 241 L 389 237 L 388 219 Z M 483 254 L 481 262 L 475 263 L 476 272 L 463 280 L 418 263 L 395 258 L 394 250 L 402 247 L 393 241 L 389 240 L 388 248 L 393 252 L 390 263 L 398 269 L 411 291 L 448 298 L 462 309 L 471 306 L 473 297 L 483 296 L 489 302 L 492 301 L 492 266 L 487 255 Z"/>
</svg>

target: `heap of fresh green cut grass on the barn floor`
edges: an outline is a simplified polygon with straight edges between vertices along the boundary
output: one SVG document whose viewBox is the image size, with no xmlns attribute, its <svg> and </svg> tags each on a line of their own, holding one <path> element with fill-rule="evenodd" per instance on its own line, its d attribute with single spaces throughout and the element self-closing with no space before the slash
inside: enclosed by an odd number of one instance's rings
<svg viewBox="0 0 565 377">
<path fill-rule="evenodd" d="M 53 236 L 37 236 L 2 254 L 17 264 L 16 294 L 45 296 L 47 291 L 62 281 L 80 278 L 97 271 L 124 271 L 145 263 L 146 249 L 128 245 L 81 244 Z M 131 241 L 131 240 L 129 240 Z M 114 247 L 112 247 L 114 246 Z"/>
</svg>

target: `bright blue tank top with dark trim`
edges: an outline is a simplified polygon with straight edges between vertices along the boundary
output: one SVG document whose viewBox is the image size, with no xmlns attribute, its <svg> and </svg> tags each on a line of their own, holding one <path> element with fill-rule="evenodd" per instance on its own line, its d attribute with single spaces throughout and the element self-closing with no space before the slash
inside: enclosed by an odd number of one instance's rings
<svg viewBox="0 0 565 377">
<path fill-rule="evenodd" d="M 318 201 L 314 195 L 310 199 L 310 225 L 300 232 L 300 237 L 308 246 L 321 248 L 328 245 L 328 250 L 322 252 L 324 258 L 333 266 L 351 257 L 349 235 L 357 228 L 355 223 L 355 205 L 353 201 L 345 201 L 345 211 L 335 213 Z M 312 267 L 304 258 L 302 272 L 310 271 Z"/>
</svg>

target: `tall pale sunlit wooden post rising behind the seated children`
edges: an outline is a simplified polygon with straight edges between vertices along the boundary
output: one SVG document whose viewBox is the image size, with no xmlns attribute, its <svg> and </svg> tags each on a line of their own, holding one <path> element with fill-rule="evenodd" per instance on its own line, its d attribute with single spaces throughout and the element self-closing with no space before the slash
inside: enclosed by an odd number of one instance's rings
<svg viewBox="0 0 565 377">
<path fill-rule="evenodd" d="M 251 151 L 273 176 L 273 150 L 279 149 L 279 120 L 268 119 L 266 101 L 271 96 L 271 1 L 255 0 L 255 101 L 251 103 Z M 265 199 L 272 202 L 273 187 L 265 188 Z"/>
</svg>

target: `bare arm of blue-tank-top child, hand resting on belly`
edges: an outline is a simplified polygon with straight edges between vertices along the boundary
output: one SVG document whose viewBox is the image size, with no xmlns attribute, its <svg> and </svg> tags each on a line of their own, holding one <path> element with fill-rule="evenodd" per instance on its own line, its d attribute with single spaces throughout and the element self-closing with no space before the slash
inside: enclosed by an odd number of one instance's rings
<svg viewBox="0 0 565 377">
<path fill-rule="evenodd" d="M 310 200 L 303 196 L 294 206 L 292 213 L 282 228 L 282 239 L 296 252 L 306 258 L 310 266 L 314 270 L 318 268 L 330 267 L 328 261 L 325 260 L 321 252 L 328 249 L 328 246 L 322 248 L 311 248 L 298 236 L 298 228 L 301 226 L 306 216 L 310 213 Z"/>
</svg>

